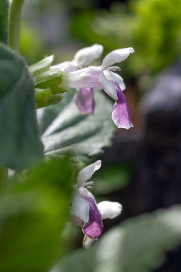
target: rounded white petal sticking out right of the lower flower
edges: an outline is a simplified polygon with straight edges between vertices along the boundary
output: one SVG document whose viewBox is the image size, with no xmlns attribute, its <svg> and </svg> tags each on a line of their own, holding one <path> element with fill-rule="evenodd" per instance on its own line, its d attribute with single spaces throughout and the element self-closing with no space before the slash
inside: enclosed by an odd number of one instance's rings
<svg viewBox="0 0 181 272">
<path fill-rule="evenodd" d="M 102 219 L 118 216 L 122 211 L 122 205 L 118 202 L 102 201 L 97 204 Z"/>
</svg>

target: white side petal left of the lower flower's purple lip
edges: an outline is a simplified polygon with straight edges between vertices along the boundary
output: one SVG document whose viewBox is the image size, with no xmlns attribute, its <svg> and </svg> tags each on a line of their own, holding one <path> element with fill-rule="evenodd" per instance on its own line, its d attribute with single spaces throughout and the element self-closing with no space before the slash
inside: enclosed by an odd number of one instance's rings
<svg viewBox="0 0 181 272">
<path fill-rule="evenodd" d="M 74 211 L 76 216 L 78 216 L 83 221 L 89 221 L 90 206 L 89 203 L 83 197 L 81 197 L 79 190 L 76 190 L 76 193 L 74 195 L 72 201 L 72 210 Z"/>
</svg>

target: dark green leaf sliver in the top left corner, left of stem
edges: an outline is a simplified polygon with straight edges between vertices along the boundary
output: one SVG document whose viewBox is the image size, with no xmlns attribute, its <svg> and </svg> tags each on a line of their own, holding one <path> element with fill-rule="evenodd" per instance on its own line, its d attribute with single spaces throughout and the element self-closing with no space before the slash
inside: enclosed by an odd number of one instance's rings
<svg viewBox="0 0 181 272">
<path fill-rule="evenodd" d="M 0 41 L 7 41 L 7 23 L 8 23 L 8 2 L 7 0 L 0 1 Z"/>
</svg>

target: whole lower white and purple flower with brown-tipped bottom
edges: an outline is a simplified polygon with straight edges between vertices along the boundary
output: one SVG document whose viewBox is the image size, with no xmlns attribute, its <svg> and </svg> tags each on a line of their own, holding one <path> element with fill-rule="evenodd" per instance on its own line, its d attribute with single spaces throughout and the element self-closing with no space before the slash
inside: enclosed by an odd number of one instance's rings
<svg viewBox="0 0 181 272">
<path fill-rule="evenodd" d="M 96 204 L 94 196 L 86 189 L 92 188 L 94 182 L 88 181 L 101 167 L 101 161 L 83 168 L 77 176 L 76 190 L 72 201 L 73 221 L 82 227 L 85 234 L 83 247 L 88 249 L 103 231 L 103 219 L 114 218 L 122 211 L 118 202 L 102 201 Z"/>
</svg>

